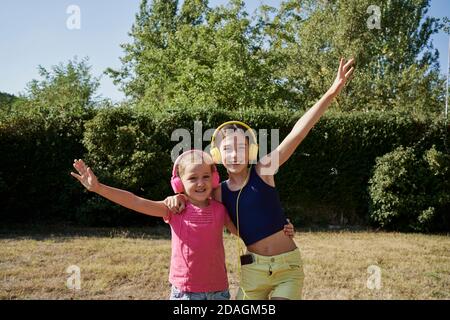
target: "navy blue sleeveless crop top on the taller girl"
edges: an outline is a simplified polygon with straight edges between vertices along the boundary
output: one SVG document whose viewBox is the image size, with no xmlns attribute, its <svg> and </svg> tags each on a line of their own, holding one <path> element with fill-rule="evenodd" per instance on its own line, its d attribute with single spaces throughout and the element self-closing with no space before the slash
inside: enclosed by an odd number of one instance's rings
<svg viewBox="0 0 450 320">
<path fill-rule="evenodd" d="M 236 199 L 238 191 L 231 191 L 221 183 L 222 203 L 237 227 Z M 250 178 L 239 197 L 239 235 L 245 245 L 251 245 L 280 230 L 287 223 L 277 190 L 265 183 L 252 166 Z"/>
</svg>

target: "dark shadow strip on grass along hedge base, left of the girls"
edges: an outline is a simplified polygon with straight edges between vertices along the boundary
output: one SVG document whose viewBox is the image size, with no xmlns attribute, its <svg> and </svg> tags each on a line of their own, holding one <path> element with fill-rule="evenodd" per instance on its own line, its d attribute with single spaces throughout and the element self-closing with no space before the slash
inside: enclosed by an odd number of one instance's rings
<svg viewBox="0 0 450 320">
<path fill-rule="evenodd" d="M 170 240 L 170 227 L 79 227 L 68 225 L 0 226 L 0 239 L 69 241 L 74 238 L 126 238 Z"/>
</svg>

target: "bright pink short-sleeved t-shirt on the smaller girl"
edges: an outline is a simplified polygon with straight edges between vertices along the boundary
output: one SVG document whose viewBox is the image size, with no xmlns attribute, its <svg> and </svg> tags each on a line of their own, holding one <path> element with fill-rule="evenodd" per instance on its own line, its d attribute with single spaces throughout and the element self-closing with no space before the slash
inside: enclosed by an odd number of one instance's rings
<svg viewBox="0 0 450 320">
<path fill-rule="evenodd" d="M 171 284 L 186 292 L 228 289 L 223 227 L 229 220 L 224 205 L 215 200 L 206 208 L 187 201 L 183 212 L 164 217 L 172 231 Z"/>
</svg>

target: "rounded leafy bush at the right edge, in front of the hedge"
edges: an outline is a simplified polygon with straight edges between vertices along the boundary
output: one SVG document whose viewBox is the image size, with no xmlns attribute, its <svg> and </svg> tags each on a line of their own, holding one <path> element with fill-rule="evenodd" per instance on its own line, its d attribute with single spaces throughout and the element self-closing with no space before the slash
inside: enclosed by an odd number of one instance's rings
<svg viewBox="0 0 450 320">
<path fill-rule="evenodd" d="M 403 231 L 450 230 L 450 156 L 399 147 L 376 160 L 370 217 Z"/>
</svg>

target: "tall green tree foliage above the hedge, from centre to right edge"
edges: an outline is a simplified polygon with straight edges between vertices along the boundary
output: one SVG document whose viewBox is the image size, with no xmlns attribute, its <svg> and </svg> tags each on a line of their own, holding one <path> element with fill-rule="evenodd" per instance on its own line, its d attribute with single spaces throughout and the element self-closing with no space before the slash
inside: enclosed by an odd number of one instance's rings
<svg viewBox="0 0 450 320">
<path fill-rule="evenodd" d="M 379 9 L 379 25 L 376 14 Z M 444 23 L 429 0 L 141 2 L 119 70 L 108 73 L 133 101 L 172 105 L 305 109 L 328 89 L 339 57 L 356 73 L 340 110 L 439 112 L 443 78 L 431 36 Z"/>
</svg>

